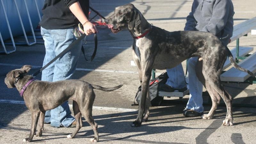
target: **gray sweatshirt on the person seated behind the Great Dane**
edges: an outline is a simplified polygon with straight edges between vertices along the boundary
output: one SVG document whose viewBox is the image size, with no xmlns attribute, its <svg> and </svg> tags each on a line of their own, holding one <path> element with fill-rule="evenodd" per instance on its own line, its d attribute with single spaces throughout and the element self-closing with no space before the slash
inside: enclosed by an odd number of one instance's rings
<svg viewBox="0 0 256 144">
<path fill-rule="evenodd" d="M 227 45 L 233 33 L 231 0 L 194 0 L 184 30 L 210 32 Z"/>
</svg>

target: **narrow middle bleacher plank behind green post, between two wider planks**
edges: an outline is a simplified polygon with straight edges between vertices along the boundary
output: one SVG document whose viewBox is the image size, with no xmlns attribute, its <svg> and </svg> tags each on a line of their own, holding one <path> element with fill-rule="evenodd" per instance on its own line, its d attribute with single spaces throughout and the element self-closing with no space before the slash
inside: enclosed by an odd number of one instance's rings
<svg viewBox="0 0 256 144">
<path fill-rule="evenodd" d="M 245 55 L 247 55 L 248 53 L 253 51 L 253 47 L 242 47 L 239 46 L 239 56 L 243 57 Z M 234 59 L 236 58 L 236 47 L 234 47 L 232 50 L 230 50 L 230 52 L 232 53 Z M 229 66 L 231 66 L 231 62 L 229 60 L 229 58 L 227 58 L 226 62 L 224 63 L 223 66 L 223 70 L 228 68 Z"/>
</svg>

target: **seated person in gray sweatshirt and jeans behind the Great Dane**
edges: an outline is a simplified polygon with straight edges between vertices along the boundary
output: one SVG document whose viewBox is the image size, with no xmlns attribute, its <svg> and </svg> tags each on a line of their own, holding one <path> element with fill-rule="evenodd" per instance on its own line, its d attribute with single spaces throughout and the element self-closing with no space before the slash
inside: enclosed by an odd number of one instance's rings
<svg viewBox="0 0 256 144">
<path fill-rule="evenodd" d="M 191 12 L 187 16 L 184 30 L 210 32 L 220 38 L 227 46 L 233 34 L 234 7 L 231 0 L 194 0 Z M 198 57 L 188 59 L 189 100 L 183 111 L 184 116 L 201 116 L 203 107 L 203 84 L 196 77 L 196 64 L 202 65 Z M 184 71 L 181 64 L 167 69 L 169 79 L 163 85 L 165 91 L 184 91 L 186 88 Z"/>
</svg>

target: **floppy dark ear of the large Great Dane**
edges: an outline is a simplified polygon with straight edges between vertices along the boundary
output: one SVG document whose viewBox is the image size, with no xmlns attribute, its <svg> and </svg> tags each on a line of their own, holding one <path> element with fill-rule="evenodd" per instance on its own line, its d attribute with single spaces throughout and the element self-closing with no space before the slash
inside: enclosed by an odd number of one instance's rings
<svg viewBox="0 0 256 144">
<path fill-rule="evenodd" d="M 132 30 L 134 27 L 140 25 L 140 13 L 136 8 L 131 10 L 131 20 L 128 22 L 128 28 Z"/>
</svg>

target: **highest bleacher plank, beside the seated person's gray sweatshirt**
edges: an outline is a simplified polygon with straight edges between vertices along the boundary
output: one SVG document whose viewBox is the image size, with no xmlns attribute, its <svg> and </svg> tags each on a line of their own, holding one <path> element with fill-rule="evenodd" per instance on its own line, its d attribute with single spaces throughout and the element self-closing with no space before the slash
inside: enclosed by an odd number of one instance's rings
<svg viewBox="0 0 256 144">
<path fill-rule="evenodd" d="M 234 26 L 233 36 L 230 38 L 231 42 L 248 34 L 252 29 L 256 28 L 256 17 L 241 22 Z"/>
</svg>

